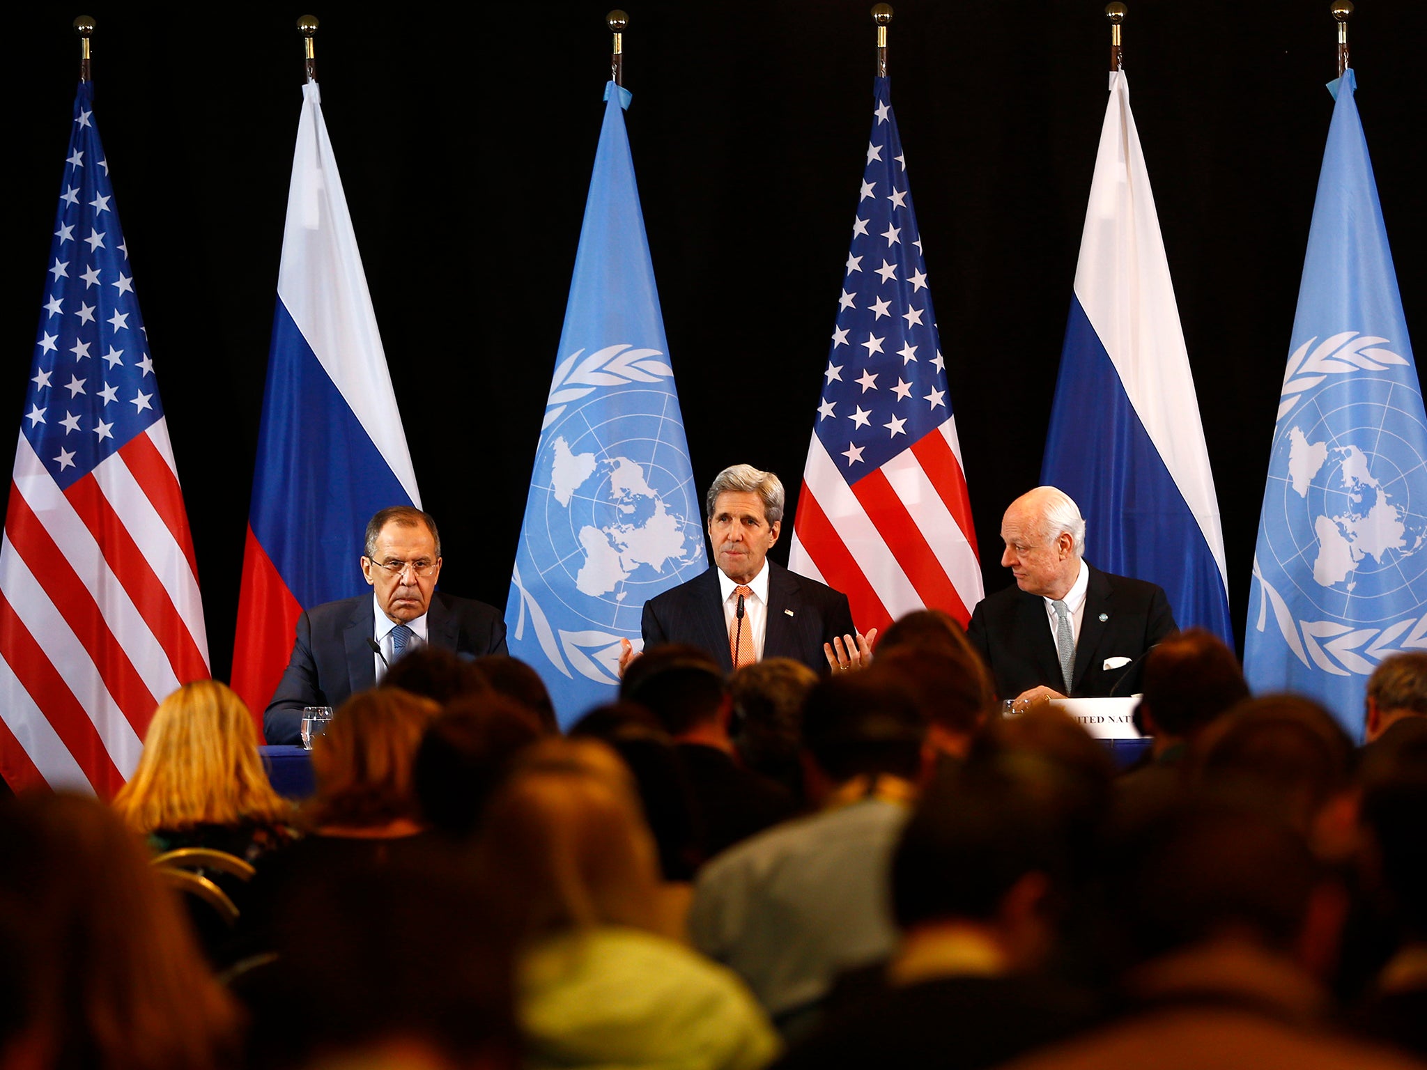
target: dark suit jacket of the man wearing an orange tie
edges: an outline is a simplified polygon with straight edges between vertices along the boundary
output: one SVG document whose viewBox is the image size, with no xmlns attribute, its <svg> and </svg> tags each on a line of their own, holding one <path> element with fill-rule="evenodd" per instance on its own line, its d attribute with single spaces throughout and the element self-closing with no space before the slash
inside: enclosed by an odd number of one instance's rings
<svg viewBox="0 0 1427 1070">
<path fill-rule="evenodd" d="M 822 645 L 853 631 L 848 596 L 772 561 L 768 569 L 763 656 L 792 658 L 813 672 L 826 672 Z M 714 655 L 725 672 L 733 669 L 716 566 L 645 602 L 642 631 L 646 651 L 659 643 L 689 643 Z"/>
</svg>

